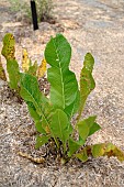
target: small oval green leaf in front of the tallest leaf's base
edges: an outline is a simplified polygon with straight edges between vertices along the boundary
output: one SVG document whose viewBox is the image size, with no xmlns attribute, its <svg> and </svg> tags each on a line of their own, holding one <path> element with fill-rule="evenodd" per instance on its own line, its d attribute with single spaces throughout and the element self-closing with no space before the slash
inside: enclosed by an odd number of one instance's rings
<svg viewBox="0 0 124 187">
<path fill-rule="evenodd" d="M 63 110 L 57 109 L 53 114 L 50 129 L 54 135 L 59 138 L 64 144 L 69 139 L 72 128 L 68 121 L 67 114 Z"/>
</svg>

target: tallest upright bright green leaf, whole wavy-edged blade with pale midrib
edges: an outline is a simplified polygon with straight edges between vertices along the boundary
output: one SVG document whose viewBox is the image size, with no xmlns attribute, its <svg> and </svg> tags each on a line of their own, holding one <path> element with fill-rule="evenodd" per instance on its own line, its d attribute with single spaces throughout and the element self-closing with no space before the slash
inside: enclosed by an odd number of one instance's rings
<svg viewBox="0 0 124 187">
<path fill-rule="evenodd" d="M 65 110 L 68 116 L 75 111 L 72 103 L 77 99 L 78 91 L 76 76 L 69 70 L 70 57 L 71 47 L 67 40 L 61 34 L 52 37 L 45 48 L 46 62 L 52 66 L 47 72 L 50 82 L 50 101 L 55 108 Z M 69 106 L 72 107 L 69 108 Z"/>
</svg>

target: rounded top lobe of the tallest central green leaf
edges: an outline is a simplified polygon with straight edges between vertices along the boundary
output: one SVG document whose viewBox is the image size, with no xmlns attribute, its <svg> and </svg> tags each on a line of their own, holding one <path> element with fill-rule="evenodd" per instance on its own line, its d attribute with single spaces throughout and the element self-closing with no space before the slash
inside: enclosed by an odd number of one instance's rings
<svg viewBox="0 0 124 187">
<path fill-rule="evenodd" d="M 68 69 L 71 57 L 71 47 L 67 40 L 57 34 L 52 37 L 45 48 L 45 59 L 52 67 L 65 67 Z"/>
</svg>

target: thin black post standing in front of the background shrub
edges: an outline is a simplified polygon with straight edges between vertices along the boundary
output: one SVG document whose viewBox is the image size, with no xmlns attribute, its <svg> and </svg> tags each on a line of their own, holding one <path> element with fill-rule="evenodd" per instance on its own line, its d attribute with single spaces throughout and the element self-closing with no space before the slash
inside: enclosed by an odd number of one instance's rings
<svg viewBox="0 0 124 187">
<path fill-rule="evenodd" d="M 36 4 L 34 0 L 31 0 L 31 10 L 32 10 L 33 28 L 34 30 L 38 30 Z"/>
</svg>

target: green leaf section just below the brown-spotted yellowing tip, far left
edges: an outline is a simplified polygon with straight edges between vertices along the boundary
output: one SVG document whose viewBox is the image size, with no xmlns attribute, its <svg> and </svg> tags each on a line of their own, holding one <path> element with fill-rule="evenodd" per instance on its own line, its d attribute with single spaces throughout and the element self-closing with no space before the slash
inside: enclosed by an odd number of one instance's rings
<svg viewBox="0 0 124 187">
<path fill-rule="evenodd" d="M 19 64 L 15 59 L 8 59 L 7 62 L 7 70 L 9 74 L 9 86 L 12 89 L 19 89 L 19 81 L 20 81 L 20 69 Z"/>
</svg>

